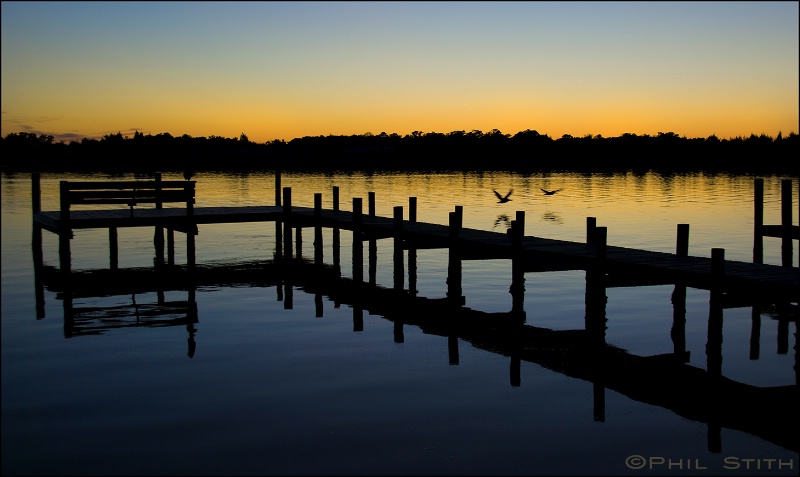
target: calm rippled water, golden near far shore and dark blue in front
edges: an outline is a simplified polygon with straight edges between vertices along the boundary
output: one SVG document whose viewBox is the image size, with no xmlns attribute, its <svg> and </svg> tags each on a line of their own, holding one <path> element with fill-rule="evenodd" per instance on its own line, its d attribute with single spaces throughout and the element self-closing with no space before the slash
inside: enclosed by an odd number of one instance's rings
<svg viewBox="0 0 800 477">
<path fill-rule="evenodd" d="M 42 207 L 58 208 L 59 180 L 108 178 L 44 174 Z M 198 207 L 274 203 L 271 174 L 194 179 Z M 767 224 L 780 223 L 781 179 L 765 177 Z M 585 240 L 586 217 L 592 216 L 608 227 L 610 245 L 662 252 L 674 252 L 677 224 L 688 223 L 690 255 L 708 257 L 711 248 L 722 247 L 728 259 L 752 260 L 752 177 L 285 174 L 282 185 L 292 188 L 294 205 L 309 207 L 315 192 L 330 207 L 338 186 L 341 208 L 351 210 L 352 198 L 361 197 L 365 213 L 374 191 L 382 216 L 415 196 L 418 220 L 440 224 L 462 205 L 464 226 L 484 230 L 505 231 L 524 210 L 527 235 L 573 241 Z M 540 188 L 562 191 L 545 196 Z M 793 188 L 797 200 L 796 179 Z M 492 189 L 513 189 L 512 201 L 498 204 Z M 601 388 L 598 401 L 592 382 L 535 362 L 523 360 L 519 385 L 512 385 L 508 356 L 413 325 L 403 326 L 397 342 L 395 325 L 385 317 L 329 296 L 322 296 L 319 313 L 315 295 L 301 287 L 289 290 L 287 307 L 277 285 L 200 286 L 198 321 L 190 329 L 180 321 L 185 313 L 171 317 L 180 323 L 175 326 L 144 326 L 147 317 L 134 326 L 137 307 L 157 303 L 155 292 L 75 298 L 76 308 L 96 308 L 82 323 L 99 333 L 65 338 L 60 294 L 45 290 L 37 316 L 30 190 L 27 174 L 2 176 L 4 475 L 798 473 L 797 449 L 726 427 L 717 436 L 721 448 L 710 449 L 706 422 L 611 389 Z M 152 234 L 120 229 L 121 268 L 153 265 Z M 57 266 L 58 240 L 48 232 L 43 238 L 44 262 Z M 342 232 L 345 277 L 352 277 L 351 238 Z M 179 264 L 186 261 L 183 240 L 176 234 Z M 306 258 L 313 259 L 312 242 L 306 229 Z M 330 230 L 323 243 L 330 264 Z M 275 249 L 272 223 L 201 225 L 197 263 L 271 260 Z M 764 240 L 765 263 L 781 264 L 780 251 L 778 239 Z M 391 239 L 377 242 L 375 282 L 386 288 L 393 286 L 392 253 Z M 795 241 L 795 267 L 798 255 Z M 418 296 L 445 297 L 447 257 L 446 250 L 417 251 Z M 105 230 L 75 232 L 73 270 L 108 263 Z M 465 261 L 462 274 L 467 307 L 511 309 L 510 261 Z M 526 273 L 527 325 L 582 330 L 585 287 L 582 270 Z M 673 289 L 607 289 L 606 342 L 637 356 L 671 353 Z M 187 291 L 167 291 L 163 298 L 185 301 Z M 759 351 L 752 359 L 752 308 L 724 310 L 723 375 L 757 387 L 796 385 L 796 323 L 789 324 L 786 352 L 778 320 L 756 315 Z M 688 364 L 701 370 L 708 318 L 709 293 L 688 289 Z M 631 456 L 644 457 L 644 468 L 631 469 Z"/>
</svg>

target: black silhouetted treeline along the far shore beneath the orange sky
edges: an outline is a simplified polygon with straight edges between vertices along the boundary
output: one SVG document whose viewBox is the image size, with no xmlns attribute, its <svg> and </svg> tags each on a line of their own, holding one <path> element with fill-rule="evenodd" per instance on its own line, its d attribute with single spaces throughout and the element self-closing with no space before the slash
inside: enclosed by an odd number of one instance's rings
<svg viewBox="0 0 800 477">
<path fill-rule="evenodd" d="M 800 138 L 794 132 L 720 139 L 626 133 L 553 139 L 526 129 L 305 136 L 255 143 L 238 138 L 136 132 L 69 144 L 53 136 L 10 133 L 0 138 L 7 171 L 576 171 L 730 172 L 800 175 Z"/>
</svg>

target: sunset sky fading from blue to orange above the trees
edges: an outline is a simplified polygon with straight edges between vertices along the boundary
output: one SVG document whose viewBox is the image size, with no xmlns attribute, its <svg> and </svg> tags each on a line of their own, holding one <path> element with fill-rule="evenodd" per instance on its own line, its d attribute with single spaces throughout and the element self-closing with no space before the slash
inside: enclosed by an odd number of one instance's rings
<svg viewBox="0 0 800 477">
<path fill-rule="evenodd" d="M 800 132 L 798 2 L 2 2 L 2 136 Z"/>
</svg>

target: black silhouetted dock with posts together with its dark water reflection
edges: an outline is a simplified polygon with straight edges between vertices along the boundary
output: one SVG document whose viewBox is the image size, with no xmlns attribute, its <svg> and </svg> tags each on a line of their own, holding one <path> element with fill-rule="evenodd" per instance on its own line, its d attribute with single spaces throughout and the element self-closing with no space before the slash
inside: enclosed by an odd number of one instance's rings
<svg viewBox="0 0 800 477">
<path fill-rule="evenodd" d="M 795 343 L 795 383 L 787 386 L 760 388 L 732 381 L 722 374 L 722 320 L 727 307 L 753 307 L 751 359 L 760 353 L 761 314 L 768 306 L 780 310 L 779 354 L 788 353 L 789 328 L 797 321 L 800 297 L 800 273 L 792 266 L 791 241 L 797 238 L 798 227 L 791 224 L 791 194 L 783 194 L 783 223 L 765 226 L 758 220 L 759 180 L 756 180 L 754 263 L 725 260 L 723 249 L 712 249 L 710 258 L 688 255 L 689 225 L 677 228 L 676 253 L 659 253 L 606 243 L 606 228 L 587 218 L 586 242 L 568 242 L 524 236 L 524 212 L 517 212 L 508 233 L 462 227 L 463 209 L 456 206 L 447 225 L 418 222 L 416 198 L 409 198 L 408 215 L 395 206 L 393 217 L 375 215 L 375 194 L 370 192 L 368 212 L 363 214 L 362 199 L 353 198 L 352 210 L 339 210 L 339 191 L 333 189 L 331 209 L 322 208 L 322 194 L 314 195 L 313 208 L 294 207 L 291 189 L 280 187 L 276 175 L 276 205 L 252 207 L 194 207 L 192 181 L 123 181 L 114 183 L 113 191 L 87 198 L 110 199 L 128 208 L 115 210 L 70 210 L 73 204 L 62 200 L 59 211 L 42 212 L 38 204 L 38 176 L 34 175 L 34 265 L 37 271 L 37 315 L 44 317 L 43 288 L 60 294 L 64 302 L 65 336 L 92 334 L 98 330 L 122 326 L 186 325 L 189 332 L 189 356 L 195 353 L 194 324 L 198 322 L 195 290 L 203 284 L 248 283 L 276 286 L 277 299 L 292 308 L 295 287 L 315 295 L 316 314 L 323 316 L 322 297 L 330 297 L 336 306 L 348 304 L 353 309 L 353 330 L 363 330 L 363 313 L 380 314 L 394 323 L 394 341 L 403 342 L 405 325 L 419 326 L 424 332 L 447 336 L 451 364 L 458 364 L 458 340 L 510 358 L 510 382 L 519 386 L 520 363 L 529 361 L 548 369 L 593 383 L 594 418 L 604 420 L 605 389 L 612 389 L 632 399 L 671 409 L 675 413 L 708 423 L 709 450 L 720 452 L 720 429 L 727 427 L 758 435 L 787 449 L 797 450 L 800 429 L 798 414 L 797 350 Z M 107 184 L 107 183 L 106 183 Z M 75 184 L 73 184 L 75 185 Z M 791 191 L 791 181 L 782 183 Z M 70 191 L 62 183 L 62 194 Z M 76 189 L 100 189 L 103 183 L 78 183 Z M 159 190 L 171 187 L 171 199 L 184 207 L 161 208 Z M 133 201 L 133 190 L 146 189 L 144 203 L 154 208 L 137 209 L 142 202 Z M 763 183 L 761 185 L 763 193 Z M 152 192 L 152 194 L 151 194 Z M 67 192 L 69 194 L 70 192 Z M 79 194 L 80 195 L 80 194 Z M 62 196 L 63 197 L 63 196 Z M 127 202 L 126 202 L 127 201 Z M 151 202 L 152 201 L 152 202 Z M 785 210 L 789 213 L 786 214 Z M 131 205 L 133 204 L 133 205 Z M 66 213 L 65 213 L 66 209 Z M 788 215 L 788 219 L 787 219 Z M 763 215 L 762 215 L 763 217 Z M 272 261 L 230 266 L 205 266 L 195 263 L 194 235 L 197 225 L 212 223 L 265 222 L 276 223 L 276 253 Z M 116 266 L 117 227 L 155 227 L 156 266 L 146 269 L 120 270 Z M 322 255 L 324 227 L 333 229 L 333 265 Z M 73 229 L 108 228 L 110 267 L 107 270 L 72 271 L 69 241 Z M 300 257 L 303 228 L 314 229 L 314 257 Z M 59 235 L 58 268 L 45 266 L 41 252 L 41 230 Z M 163 230 L 168 232 L 165 260 Z M 352 278 L 342 276 L 339 232 L 353 233 Z M 187 263 L 174 264 L 173 231 L 185 233 Z M 297 239 L 295 245 L 293 240 Z M 783 239 L 783 265 L 759 263 L 764 236 Z M 375 260 L 372 243 L 392 238 L 394 242 L 394 284 L 385 288 L 374 284 Z M 363 242 L 369 241 L 368 282 L 364 280 Z M 789 246 L 786 246 L 788 242 Z M 37 249 L 38 247 L 38 249 Z M 424 248 L 448 250 L 447 296 L 424 298 L 416 290 L 416 251 Z M 293 250 L 297 250 L 297 253 Z M 404 260 L 408 251 L 408 263 Z M 786 256 L 789 260 L 786 260 Z M 510 311 L 486 313 L 466 306 L 461 290 L 461 262 L 472 259 L 506 258 L 511 260 L 512 277 Z M 166 262 L 166 263 L 165 263 Z M 585 327 L 555 331 L 532 326 L 523 308 L 524 274 L 546 270 L 586 271 Z M 405 278 L 408 276 L 408 286 Z M 606 289 L 617 286 L 673 284 L 674 310 L 671 340 L 674 352 L 642 357 L 608 345 L 606 331 Z M 710 291 L 706 369 L 689 366 L 685 343 L 686 288 Z M 180 302 L 164 300 L 167 290 L 187 290 L 188 299 Z M 136 294 L 157 292 L 158 303 L 132 304 L 108 310 L 73 307 L 73 299 L 81 296 Z M 133 307 L 133 308 L 131 308 Z M 136 312 L 130 324 L 131 309 Z M 127 311 L 126 311 L 127 310 Z M 142 313 L 139 316 L 140 310 Z M 128 323 L 115 320 L 127 313 Z M 149 313 L 149 315 L 148 315 Z M 93 324 L 93 321 L 95 323 Z M 103 321 L 105 320 L 105 321 Z M 96 321 L 103 321 L 96 323 Z M 534 320 L 535 321 L 535 320 Z M 121 323 L 121 322 L 120 322 Z M 118 325 L 118 326 L 117 326 Z M 796 335 L 795 335 L 796 341 Z M 788 425 L 786 423 L 789 423 Z"/>
</svg>

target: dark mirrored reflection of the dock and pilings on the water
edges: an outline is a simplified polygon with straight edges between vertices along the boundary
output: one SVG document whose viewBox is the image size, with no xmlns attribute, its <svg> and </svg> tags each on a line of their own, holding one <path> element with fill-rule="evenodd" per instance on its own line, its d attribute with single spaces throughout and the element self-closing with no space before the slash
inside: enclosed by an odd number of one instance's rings
<svg viewBox="0 0 800 477">
<path fill-rule="evenodd" d="M 354 210 L 360 204 L 354 200 Z M 402 221 L 402 210 L 399 210 Z M 397 217 L 397 216 L 396 216 Z M 458 211 L 451 213 L 451 226 L 459 227 Z M 518 216 L 517 220 L 524 220 Z M 515 222 L 511 221 L 513 235 Z M 276 223 L 275 259 L 225 265 L 194 265 L 183 267 L 159 263 L 153 268 L 87 270 L 62 273 L 45 266 L 39 259 L 36 265 L 37 310 L 44 318 L 42 287 L 56 292 L 64 306 L 64 335 L 75 338 L 99 335 L 105 331 L 127 327 L 184 326 L 188 338 L 187 354 L 195 355 L 195 333 L 198 323 L 196 291 L 198 287 L 272 287 L 277 289 L 278 301 L 292 309 L 295 288 L 314 295 L 315 316 L 323 317 L 325 296 L 338 308 L 345 304 L 353 310 L 353 331 L 364 330 L 363 313 L 377 314 L 394 323 L 394 343 L 404 342 L 405 326 L 417 326 L 423 333 L 447 337 L 449 363 L 459 365 L 459 340 L 476 348 L 509 359 L 509 383 L 521 386 L 522 361 L 536 363 L 547 369 L 592 383 L 592 407 L 596 421 L 605 420 L 605 390 L 628 396 L 644 403 L 661 406 L 676 414 L 708 427 L 708 451 L 720 453 L 722 428 L 736 429 L 756 435 L 788 450 L 796 450 L 800 442 L 798 422 L 797 383 L 780 387 L 757 387 L 724 376 L 722 363 L 722 322 L 725 297 L 712 288 L 709 300 L 706 369 L 687 364 L 685 343 L 686 285 L 678 283 L 672 294 L 674 309 L 670 338 L 674 352 L 658 356 L 637 356 L 606 343 L 606 289 L 608 277 L 602 261 L 586 270 L 585 326 L 575 330 L 552 330 L 526 323 L 523 307 L 525 277 L 523 267 L 512 266 L 509 288 L 510 311 L 483 312 L 466 306 L 462 296 L 462 254 L 457 237 L 451 237 L 448 255 L 447 297 L 443 299 L 417 296 L 418 291 L 404 287 L 404 259 L 407 252 L 408 281 L 416 283 L 416 249 L 403 247 L 394 240 L 394 286 L 386 288 L 375 283 L 377 248 L 369 245 L 368 269 L 370 279 L 363 277 L 364 244 L 356 227 L 352 240 L 352 278 L 341 274 L 339 265 L 339 230 L 334 231 L 334 265 L 324 263 L 321 227 L 315 228 L 314 259 L 302 256 L 302 228 L 288 223 Z M 296 241 L 293 241 L 293 234 Z M 374 239 L 368 239 L 374 242 Z M 34 240 L 34 247 L 38 244 Z M 34 252 L 34 257 L 40 253 Z M 513 260 L 512 265 L 521 263 Z M 187 299 L 166 301 L 166 292 L 186 292 Z M 154 303 L 138 303 L 137 295 L 155 294 Z M 130 304 L 110 307 L 75 307 L 73 300 L 91 296 L 130 295 Z M 753 306 L 751 359 L 760 353 L 760 317 L 764 308 Z M 791 309 L 773 306 L 773 316 L 779 326 L 779 353 L 788 352 L 788 324 L 796 320 Z M 795 346 L 795 363 L 797 362 Z M 797 365 L 795 365 L 797 370 Z"/>
</svg>

